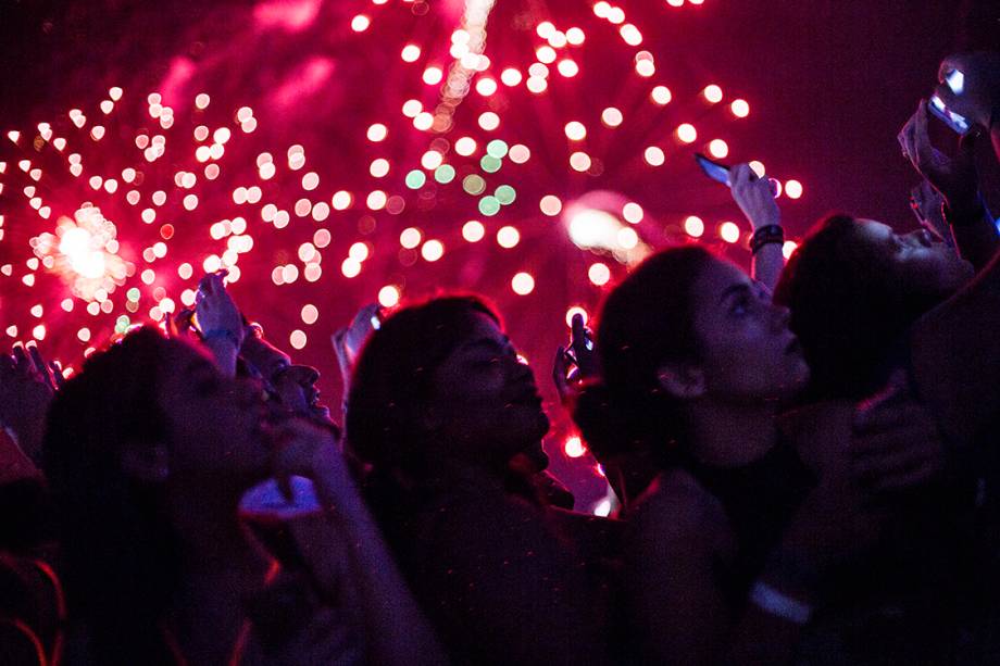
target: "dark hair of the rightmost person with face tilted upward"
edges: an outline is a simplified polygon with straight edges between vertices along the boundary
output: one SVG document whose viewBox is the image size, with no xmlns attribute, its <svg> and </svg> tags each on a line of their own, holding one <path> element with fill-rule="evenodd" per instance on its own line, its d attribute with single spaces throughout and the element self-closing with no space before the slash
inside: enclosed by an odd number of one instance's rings
<svg viewBox="0 0 1000 666">
<path fill-rule="evenodd" d="M 860 399 L 878 390 L 893 345 L 939 300 L 908 286 L 887 250 L 859 237 L 861 224 L 846 214 L 816 223 L 775 289 L 811 370 L 805 399 Z"/>
</svg>

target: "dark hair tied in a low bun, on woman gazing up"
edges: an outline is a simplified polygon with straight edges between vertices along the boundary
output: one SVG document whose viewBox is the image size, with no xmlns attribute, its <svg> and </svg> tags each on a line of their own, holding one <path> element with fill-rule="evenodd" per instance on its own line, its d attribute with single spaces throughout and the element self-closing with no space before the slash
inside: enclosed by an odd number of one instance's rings
<svg viewBox="0 0 1000 666">
<path fill-rule="evenodd" d="M 598 319 L 602 379 L 584 388 L 574 410 L 598 458 L 682 435 L 679 405 L 663 392 L 663 363 L 697 361 L 695 282 L 714 255 L 700 246 L 659 252 L 608 296 Z"/>
</svg>

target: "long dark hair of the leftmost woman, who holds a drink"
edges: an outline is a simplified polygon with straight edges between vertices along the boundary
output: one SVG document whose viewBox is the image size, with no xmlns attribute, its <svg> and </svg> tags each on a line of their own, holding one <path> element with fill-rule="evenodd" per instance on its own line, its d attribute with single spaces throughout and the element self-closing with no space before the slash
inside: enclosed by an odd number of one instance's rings
<svg viewBox="0 0 1000 666">
<path fill-rule="evenodd" d="M 157 386 L 171 344 L 182 343 L 149 327 L 126 336 L 91 356 L 49 410 L 43 461 L 70 615 L 87 627 L 102 659 L 149 663 L 151 646 L 162 645 L 157 621 L 178 588 L 177 539 L 161 510 L 161 489 L 121 464 L 126 447 L 166 433 Z"/>
</svg>

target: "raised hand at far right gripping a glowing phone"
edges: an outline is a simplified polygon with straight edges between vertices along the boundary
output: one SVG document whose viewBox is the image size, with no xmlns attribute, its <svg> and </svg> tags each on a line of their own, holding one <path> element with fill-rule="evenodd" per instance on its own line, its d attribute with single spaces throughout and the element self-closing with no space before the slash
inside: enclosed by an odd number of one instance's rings
<svg viewBox="0 0 1000 666">
<path fill-rule="evenodd" d="M 921 100 L 916 112 L 903 125 L 897 139 L 913 168 L 945 197 L 948 205 L 966 208 L 977 201 L 979 184 L 973 135 L 962 137 L 953 158 L 945 154 L 930 142 L 927 135 L 927 100 Z"/>
</svg>

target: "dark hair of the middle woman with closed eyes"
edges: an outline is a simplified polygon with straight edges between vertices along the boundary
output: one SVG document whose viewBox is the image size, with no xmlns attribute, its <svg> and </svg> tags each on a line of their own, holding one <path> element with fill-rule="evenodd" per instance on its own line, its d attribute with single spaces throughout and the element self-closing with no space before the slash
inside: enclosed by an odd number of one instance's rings
<svg viewBox="0 0 1000 666">
<path fill-rule="evenodd" d="M 395 313 L 372 334 L 351 377 L 347 445 L 382 470 L 417 477 L 428 469 L 421 416 L 434 370 L 470 334 L 474 314 L 500 318 L 478 297 L 432 299 Z"/>
</svg>

